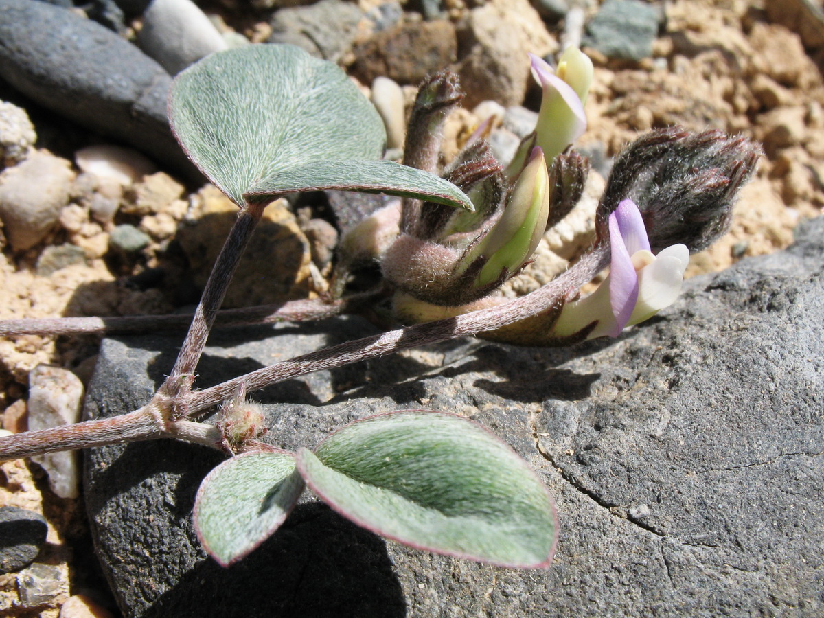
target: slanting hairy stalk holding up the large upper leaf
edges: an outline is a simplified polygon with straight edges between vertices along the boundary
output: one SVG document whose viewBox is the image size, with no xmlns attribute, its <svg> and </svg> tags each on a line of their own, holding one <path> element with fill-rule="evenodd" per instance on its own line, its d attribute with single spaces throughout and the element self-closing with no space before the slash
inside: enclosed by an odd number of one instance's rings
<svg viewBox="0 0 824 618">
<path fill-rule="evenodd" d="M 246 208 L 237 215 L 232 231 L 229 232 L 220 250 L 212 274 L 209 274 L 203 296 L 200 297 L 198 308 L 194 311 L 192 325 L 177 355 L 175 366 L 161 386 L 160 392 L 164 396 L 174 396 L 179 392 L 187 393 L 191 390 L 194 368 L 197 367 L 200 354 L 203 353 L 209 330 L 218 314 L 223 297 L 226 296 L 227 288 L 241 260 L 243 250 L 249 244 L 265 207 L 265 203 L 246 204 Z"/>
</svg>

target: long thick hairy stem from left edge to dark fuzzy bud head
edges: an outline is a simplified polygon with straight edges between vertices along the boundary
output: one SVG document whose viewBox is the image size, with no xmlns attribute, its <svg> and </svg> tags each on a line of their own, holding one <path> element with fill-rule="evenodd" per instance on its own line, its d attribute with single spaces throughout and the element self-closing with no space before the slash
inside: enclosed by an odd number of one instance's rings
<svg viewBox="0 0 824 618">
<path fill-rule="evenodd" d="M 193 417 L 232 397 L 241 385 L 246 388 L 246 391 L 256 391 L 307 373 L 342 367 L 419 345 L 438 343 L 446 339 L 502 328 L 546 311 L 559 300 L 568 301 L 578 293 L 578 288 L 583 283 L 588 282 L 606 267 L 609 258 L 609 246 L 602 244 L 588 255 L 584 255 L 577 264 L 553 282 L 527 296 L 497 307 L 474 311 L 447 320 L 391 330 L 381 335 L 335 345 L 291 358 L 283 363 L 275 363 L 204 391 L 178 392 L 171 395 L 158 391 L 152 402 L 140 410 L 111 419 L 90 420 L 0 438 L 0 461 L 46 452 L 101 447 L 118 442 L 156 438 L 177 438 L 223 450 L 218 428 L 186 419 L 172 419 L 168 410 L 172 406 L 178 410 L 182 408 L 187 411 L 188 416 Z M 268 450 L 268 448 L 263 443 L 255 442 L 249 445 L 248 450 Z"/>
</svg>

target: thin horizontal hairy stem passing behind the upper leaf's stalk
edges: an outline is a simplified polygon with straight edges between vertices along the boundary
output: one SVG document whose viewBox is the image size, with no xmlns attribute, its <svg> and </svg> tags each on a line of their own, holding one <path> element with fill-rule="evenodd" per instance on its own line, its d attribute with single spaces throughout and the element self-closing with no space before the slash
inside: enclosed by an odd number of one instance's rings
<svg viewBox="0 0 824 618">
<path fill-rule="evenodd" d="M 353 294 L 336 301 L 301 300 L 283 305 L 258 305 L 218 311 L 214 328 L 305 322 L 358 311 L 378 293 Z M 0 337 L 19 335 L 129 335 L 157 330 L 178 330 L 190 325 L 193 314 L 172 316 L 50 317 L 0 321 Z"/>
</svg>

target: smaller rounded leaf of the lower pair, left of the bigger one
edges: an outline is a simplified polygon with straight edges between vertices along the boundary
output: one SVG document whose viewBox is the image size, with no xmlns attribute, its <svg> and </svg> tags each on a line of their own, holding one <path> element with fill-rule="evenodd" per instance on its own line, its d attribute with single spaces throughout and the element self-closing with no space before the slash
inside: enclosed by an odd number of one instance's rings
<svg viewBox="0 0 824 618">
<path fill-rule="evenodd" d="M 209 472 L 194 501 L 204 550 L 227 566 L 278 529 L 304 488 L 290 453 L 245 453 Z"/>
</svg>

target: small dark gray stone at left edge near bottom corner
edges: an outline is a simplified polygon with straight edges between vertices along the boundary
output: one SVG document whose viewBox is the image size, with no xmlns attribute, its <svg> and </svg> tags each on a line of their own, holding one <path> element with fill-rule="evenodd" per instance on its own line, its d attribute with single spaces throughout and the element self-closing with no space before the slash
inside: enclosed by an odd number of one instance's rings
<svg viewBox="0 0 824 618">
<path fill-rule="evenodd" d="M 40 513 L 0 507 L 0 575 L 25 569 L 46 542 L 48 527 Z"/>
</svg>

